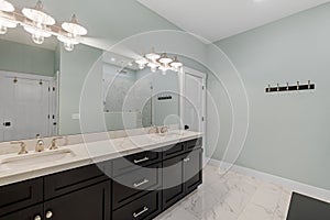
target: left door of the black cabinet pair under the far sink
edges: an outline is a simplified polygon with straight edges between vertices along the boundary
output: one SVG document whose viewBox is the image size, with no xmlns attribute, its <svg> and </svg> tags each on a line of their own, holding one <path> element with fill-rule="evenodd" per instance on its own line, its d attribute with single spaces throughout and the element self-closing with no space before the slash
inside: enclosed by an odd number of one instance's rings
<svg viewBox="0 0 330 220">
<path fill-rule="evenodd" d="M 184 156 L 163 162 L 163 209 L 167 209 L 185 196 Z"/>
</svg>

